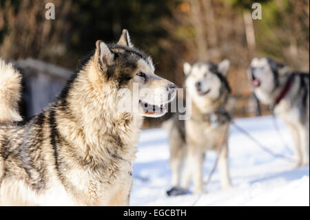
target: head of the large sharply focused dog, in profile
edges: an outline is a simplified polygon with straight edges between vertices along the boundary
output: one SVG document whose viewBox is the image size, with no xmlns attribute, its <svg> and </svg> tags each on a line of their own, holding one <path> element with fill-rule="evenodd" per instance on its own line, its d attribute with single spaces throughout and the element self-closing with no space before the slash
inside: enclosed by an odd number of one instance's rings
<svg viewBox="0 0 310 220">
<path fill-rule="evenodd" d="M 166 112 L 165 103 L 176 96 L 174 83 L 154 74 L 152 58 L 134 48 L 127 30 L 116 44 L 96 41 L 93 64 L 111 93 L 118 93 L 116 106 L 125 107 L 127 112 L 161 117 Z"/>
</svg>

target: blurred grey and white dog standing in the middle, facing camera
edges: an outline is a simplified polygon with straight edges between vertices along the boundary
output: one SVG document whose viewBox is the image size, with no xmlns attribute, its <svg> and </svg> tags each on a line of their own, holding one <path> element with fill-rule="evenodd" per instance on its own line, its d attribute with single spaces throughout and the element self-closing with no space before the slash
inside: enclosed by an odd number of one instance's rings
<svg viewBox="0 0 310 220">
<path fill-rule="evenodd" d="M 187 159 L 180 186 L 189 187 L 194 180 L 194 193 L 203 190 L 203 161 L 207 150 L 220 151 L 218 165 L 220 181 L 223 188 L 230 188 L 228 170 L 229 115 L 227 101 L 230 88 L 226 80 L 229 61 L 218 65 L 210 62 L 198 62 L 191 66 L 184 63 L 185 88 L 192 98 L 192 103 L 186 103 L 186 108 L 192 108 L 190 119 L 180 121 L 178 114 L 170 121 L 170 166 L 172 169 L 172 190 L 174 194 L 180 181 L 180 170 L 183 161 Z M 191 106 L 189 106 L 191 105 Z M 172 124 L 171 124 L 172 123 Z M 178 192 L 177 192 L 178 193 Z"/>
</svg>

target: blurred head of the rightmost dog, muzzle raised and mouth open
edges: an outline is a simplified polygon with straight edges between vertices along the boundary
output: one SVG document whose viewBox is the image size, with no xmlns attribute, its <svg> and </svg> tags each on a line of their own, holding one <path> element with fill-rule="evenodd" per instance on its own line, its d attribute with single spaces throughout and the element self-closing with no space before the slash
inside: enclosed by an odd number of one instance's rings
<svg viewBox="0 0 310 220">
<path fill-rule="evenodd" d="M 273 102 L 272 93 L 279 88 L 280 77 L 289 71 L 287 66 L 265 57 L 254 58 L 247 69 L 251 86 L 262 103 Z"/>
</svg>

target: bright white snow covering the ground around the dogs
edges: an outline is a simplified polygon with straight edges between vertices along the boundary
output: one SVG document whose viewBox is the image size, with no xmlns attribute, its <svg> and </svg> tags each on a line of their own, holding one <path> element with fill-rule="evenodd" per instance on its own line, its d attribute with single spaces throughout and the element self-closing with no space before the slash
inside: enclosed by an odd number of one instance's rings
<svg viewBox="0 0 310 220">
<path fill-rule="evenodd" d="M 280 139 L 271 117 L 237 119 L 236 123 L 274 152 L 292 157 L 292 140 L 279 121 Z M 170 188 L 168 134 L 162 128 L 143 130 L 134 164 L 132 206 L 192 206 L 197 195 L 167 197 Z M 208 152 L 205 181 L 216 160 Z M 229 138 L 229 164 L 234 188 L 221 190 L 218 170 L 196 206 L 309 206 L 309 166 L 292 170 L 293 164 L 267 154 L 233 126 Z"/>
</svg>

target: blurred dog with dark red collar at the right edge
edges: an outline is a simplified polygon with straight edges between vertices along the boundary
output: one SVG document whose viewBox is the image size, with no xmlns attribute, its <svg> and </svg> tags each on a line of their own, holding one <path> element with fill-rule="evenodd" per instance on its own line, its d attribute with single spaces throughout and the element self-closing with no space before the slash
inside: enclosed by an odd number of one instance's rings
<svg viewBox="0 0 310 220">
<path fill-rule="evenodd" d="M 296 167 L 309 165 L 309 72 L 290 72 L 272 59 L 254 58 L 247 74 L 256 97 L 288 126 Z"/>
</svg>

